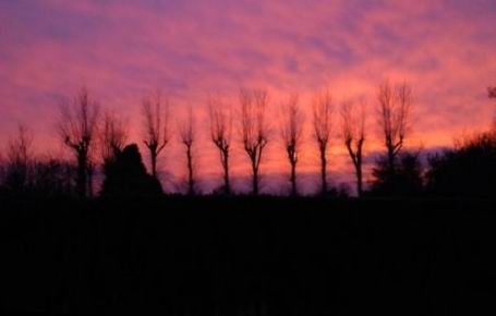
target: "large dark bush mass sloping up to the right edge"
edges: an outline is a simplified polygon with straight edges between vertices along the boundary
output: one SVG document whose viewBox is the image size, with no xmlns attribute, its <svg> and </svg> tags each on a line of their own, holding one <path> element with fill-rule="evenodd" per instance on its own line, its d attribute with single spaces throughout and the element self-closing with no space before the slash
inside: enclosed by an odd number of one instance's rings
<svg viewBox="0 0 496 316">
<path fill-rule="evenodd" d="M 496 135 L 484 133 L 428 159 L 427 191 L 445 196 L 496 196 Z"/>
</svg>

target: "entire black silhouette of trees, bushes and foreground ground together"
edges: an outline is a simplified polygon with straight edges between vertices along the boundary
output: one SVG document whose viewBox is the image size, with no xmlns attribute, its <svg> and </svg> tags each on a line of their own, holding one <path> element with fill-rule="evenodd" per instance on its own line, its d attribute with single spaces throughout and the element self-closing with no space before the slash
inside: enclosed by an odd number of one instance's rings
<svg viewBox="0 0 496 316">
<path fill-rule="evenodd" d="M 489 96 L 496 97 L 494 90 Z M 165 195 L 157 179 L 157 159 L 171 139 L 168 100 L 155 95 L 143 102 L 146 170 L 125 123 L 116 113 L 100 114 L 82 90 L 57 126 L 71 160 L 36 156 L 24 126 L 7 146 L 0 312 L 286 316 L 494 309 L 496 125 L 424 159 L 404 145 L 409 86 L 380 85 L 377 104 L 384 151 L 368 186 L 363 104 L 344 102 L 339 110 L 360 198 L 328 183 L 336 129 L 327 92 L 315 98 L 312 118 L 322 194 L 298 196 L 304 138 L 292 96 L 279 130 L 292 196 L 254 196 L 270 139 L 262 90 L 240 93 L 239 138 L 223 101 L 208 101 L 210 138 L 222 167 L 222 185 L 213 195 L 201 196 L 195 182 L 193 111 L 178 124 L 189 169 L 189 195 L 181 196 Z M 233 139 L 247 156 L 253 195 L 233 194 Z M 96 192 L 98 170 L 104 179 Z"/>
</svg>

